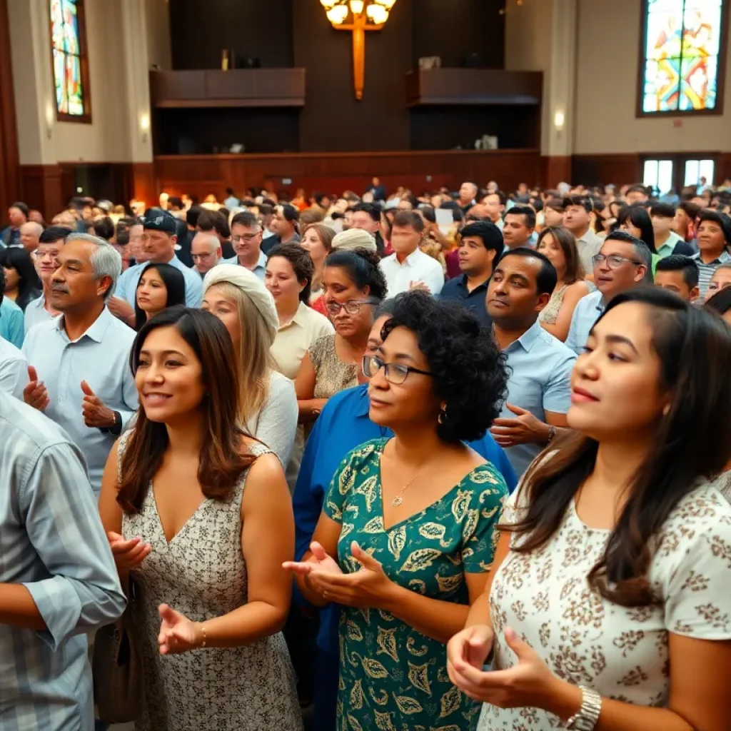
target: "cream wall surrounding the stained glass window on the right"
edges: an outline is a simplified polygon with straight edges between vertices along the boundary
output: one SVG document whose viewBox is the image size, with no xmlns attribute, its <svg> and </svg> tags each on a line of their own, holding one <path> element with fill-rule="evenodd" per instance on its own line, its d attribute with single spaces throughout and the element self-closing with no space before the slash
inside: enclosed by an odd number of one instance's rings
<svg viewBox="0 0 731 731">
<path fill-rule="evenodd" d="M 637 118 L 641 1 L 578 6 L 575 154 L 731 151 L 731 50 L 723 115 L 684 117 L 681 127 L 673 117 Z"/>
</svg>

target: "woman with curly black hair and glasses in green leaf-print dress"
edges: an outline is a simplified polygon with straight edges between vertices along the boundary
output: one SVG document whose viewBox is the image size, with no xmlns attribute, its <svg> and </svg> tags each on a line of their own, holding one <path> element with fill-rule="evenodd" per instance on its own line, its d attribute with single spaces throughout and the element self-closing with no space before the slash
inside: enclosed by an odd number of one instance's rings
<svg viewBox="0 0 731 731">
<path fill-rule="evenodd" d="M 399 298 L 383 334 L 363 372 L 371 420 L 395 436 L 345 458 L 310 553 L 285 565 L 312 604 L 344 607 L 338 729 L 472 730 L 480 708 L 450 686 L 444 643 L 485 586 L 507 489 L 463 441 L 484 435 L 507 375 L 474 315 L 425 292 Z"/>
</svg>

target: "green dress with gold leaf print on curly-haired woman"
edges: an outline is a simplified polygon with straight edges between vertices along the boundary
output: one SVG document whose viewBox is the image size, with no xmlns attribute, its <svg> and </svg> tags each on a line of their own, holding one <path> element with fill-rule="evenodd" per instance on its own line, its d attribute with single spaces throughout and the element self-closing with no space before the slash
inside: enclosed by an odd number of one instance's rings
<svg viewBox="0 0 731 731">
<path fill-rule="evenodd" d="M 355 540 L 400 586 L 468 604 L 464 574 L 490 567 L 505 482 L 482 464 L 442 499 L 385 531 L 380 465 L 387 441 L 350 452 L 330 485 L 324 510 L 342 524 L 338 563 L 346 573 L 360 568 L 350 555 Z M 445 645 L 382 610 L 344 608 L 338 731 L 471 731 L 479 714 L 480 704 L 450 682 Z"/>
</svg>

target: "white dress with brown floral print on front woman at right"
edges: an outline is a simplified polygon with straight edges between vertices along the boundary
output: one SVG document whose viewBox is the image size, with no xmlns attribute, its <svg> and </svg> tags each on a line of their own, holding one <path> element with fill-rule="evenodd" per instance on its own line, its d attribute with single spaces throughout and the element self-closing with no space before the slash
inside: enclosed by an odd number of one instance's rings
<svg viewBox="0 0 731 731">
<path fill-rule="evenodd" d="M 517 495 L 517 493 L 516 493 Z M 512 496 L 505 523 L 523 505 Z M 504 643 L 511 627 L 550 670 L 613 700 L 663 707 L 670 690 L 668 633 L 701 640 L 731 640 L 731 507 L 713 485 L 683 498 L 654 538 L 648 573 L 659 604 L 621 607 L 586 580 L 603 555 L 610 531 L 581 522 L 574 503 L 542 550 L 511 552 L 496 572 L 490 596 L 495 668 L 512 667 Z M 521 538 L 513 537 L 515 540 Z M 538 708 L 485 704 L 481 731 L 545 731 L 561 724 Z"/>
</svg>

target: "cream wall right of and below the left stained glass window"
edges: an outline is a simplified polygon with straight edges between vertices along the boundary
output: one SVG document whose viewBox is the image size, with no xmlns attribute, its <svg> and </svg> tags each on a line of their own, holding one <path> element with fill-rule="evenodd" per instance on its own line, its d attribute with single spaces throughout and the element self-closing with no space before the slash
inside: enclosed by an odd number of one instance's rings
<svg viewBox="0 0 731 731">
<path fill-rule="evenodd" d="M 92 124 L 56 124 L 56 159 L 59 162 L 129 160 L 121 2 L 124 0 L 86 0 Z"/>
</svg>

